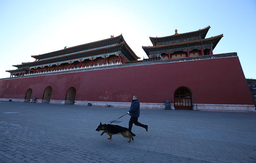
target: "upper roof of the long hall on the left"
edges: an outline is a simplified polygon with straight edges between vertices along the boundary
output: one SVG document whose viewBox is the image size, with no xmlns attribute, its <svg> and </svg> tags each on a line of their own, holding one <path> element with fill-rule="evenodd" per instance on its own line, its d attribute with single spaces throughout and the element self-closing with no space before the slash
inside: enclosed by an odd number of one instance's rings
<svg viewBox="0 0 256 163">
<path fill-rule="evenodd" d="M 80 47 L 83 47 L 83 46 L 90 46 L 90 45 L 93 45 L 93 44 L 96 44 L 96 43 L 110 41 L 110 40 L 114 40 L 114 39 L 118 39 L 118 38 L 120 38 L 122 41 L 124 41 L 123 35 L 121 34 L 121 35 L 113 37 L 113 38 L 107 38 L 107 39 L 103 39 L 103 40 L 99 40 L 99 41 L 85 43 L 85 44 L 81 44 L 81 45 L 70 47 L 70 48 L 66 48 L 66 49 L 61 49 L 61 50 L 50 52 L 50 53 L 45 53 L 45 54 L 41 54 L 41 55 L 31 55 L 31 57 L 33 57 L 35 59 L 42 59 L 42 58 L 47 57 L 48 55 L 51 55 L 51 54 L 54 54 L 54 53 L 65 52 L 65 51 L 76 49 L 76 48 L 80 48 Z"/>
</svg>

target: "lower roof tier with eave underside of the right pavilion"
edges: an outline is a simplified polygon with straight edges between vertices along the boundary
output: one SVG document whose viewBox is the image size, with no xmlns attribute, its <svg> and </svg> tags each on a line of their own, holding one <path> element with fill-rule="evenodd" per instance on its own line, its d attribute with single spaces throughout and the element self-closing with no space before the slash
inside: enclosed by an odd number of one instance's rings
<svg viewBox="0 0 256 163">
<path fill-rule="evenodd" d="M 192 44 L 192 43 L 199 43 L 199 42 L 205 42 L 205 41 L 211 41 L 211 40 L 214 41 L 213 42 L 213 49 L 214 49 L 222 37 L 223 37 L 223 34 L 215 36 L 215 37 L 205 38 L 205 39 L 185 41 L 185 42 L 179 42 L 179 43 L 171 43 L 171 44 L 166 44 L 166 45 L 161 45 L 161 46 L 151 46 L 151 47 L 150 46 L 148 46 L 148 47 L 142 46 L 142 49 L 148 54 L 149 49 L 162 49 L 162 48 L 166 48 L 166 47 L 174 47 L 174 46 L 179 46 L 179 45 L 183 45 L 183 44 Z"/>
</svg>

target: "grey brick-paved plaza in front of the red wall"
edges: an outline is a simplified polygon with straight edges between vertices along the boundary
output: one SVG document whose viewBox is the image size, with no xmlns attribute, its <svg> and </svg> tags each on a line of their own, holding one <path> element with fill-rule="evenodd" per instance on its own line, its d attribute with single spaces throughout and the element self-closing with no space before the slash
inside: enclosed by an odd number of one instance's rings
<svg viewBox="0 0 256 163">
<path fill-rule="evenodd" d="M 141 109 L 130 143 L 95 131 L 128 110 L 0 102 L 0 163 L 256 162 L 256 113 Z"/>
</svg>

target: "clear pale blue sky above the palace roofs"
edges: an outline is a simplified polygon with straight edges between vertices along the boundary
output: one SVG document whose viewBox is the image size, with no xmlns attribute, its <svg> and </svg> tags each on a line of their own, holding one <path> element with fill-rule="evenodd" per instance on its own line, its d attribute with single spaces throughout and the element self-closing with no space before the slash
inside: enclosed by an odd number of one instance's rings
<svg viewBox="0 0 256 163">
<path fill-rule="evenodd" d="M 214 54 L 237 52 L 246 78 L 256 78 L 255 0 L 36 1 L 0 0 L 0 78 L 39 55 L 123 34 L 146 57 L 149 39 L 211 26 L 223 34 Z"/>
</svg>

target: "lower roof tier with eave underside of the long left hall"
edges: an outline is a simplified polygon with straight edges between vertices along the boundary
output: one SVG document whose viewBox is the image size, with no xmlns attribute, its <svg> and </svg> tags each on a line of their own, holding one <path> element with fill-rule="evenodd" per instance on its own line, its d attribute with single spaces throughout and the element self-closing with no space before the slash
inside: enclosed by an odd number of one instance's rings
<svg viewBox="0 0 256 163">
<path fill-rule="evenodd" d="M 58 61 L 62 61 L 62 60 L 71 60 L 71 59 L 76 59 L 76 58 L 80 58 L 80 57 L 84 57 L 85 55 L 87 56 L 93 56 L 90 54 L 93 53 L 104 53 L 104 51 L 117 51 L 119 50 L 119 48 L 124 48 L 123 51 L 127 51 L 127 55 L 126 57 L 130 60 L 137 60 L 140 57 L 138 57 L 131 49 L 130 47 L 127 45 L 127 43 L 125 41 L 121 42 L 120 44 L 113 46 L 113 47 L 107 47 L 107 48 L 102 48 L 102 49 L 96 49 L 96 50 L 91 50 L 91 51 L 87 51 L 87 52 L 81 52 L 81 53 L 76 53 L 76 54 L 71 54 L 71 55 L 66 55 L 66 56 L 62 56 L 62 57 L 56 57 L 56 58 L 52 58 L 52 59 L 45 59 L 45 60 L 40 60 L 40 61 L 34 61 L 34 62 L 23 62 L 22 64 L 27 65 L 27 66 L 36 66 L 36 65 L 42 65 L 42 64 L 46 64 L 46 63 L 51 63 L 51 62 L 58 62 Z M 96 54 L 96 55 L 98 55 Z M 131 54 L 131 55 L 129 55 Z"/>
</svg>

